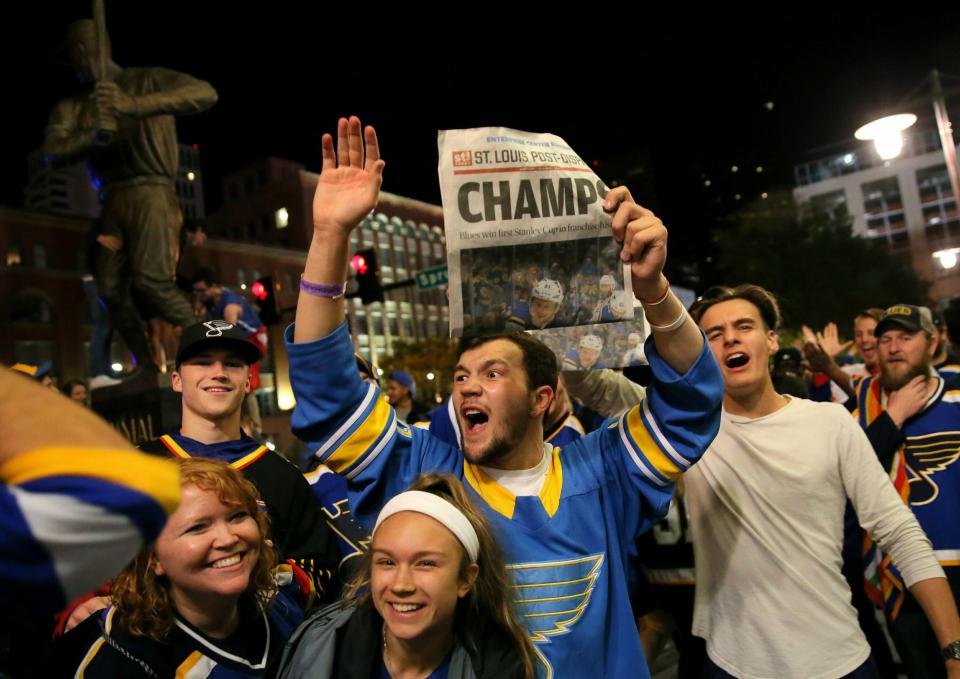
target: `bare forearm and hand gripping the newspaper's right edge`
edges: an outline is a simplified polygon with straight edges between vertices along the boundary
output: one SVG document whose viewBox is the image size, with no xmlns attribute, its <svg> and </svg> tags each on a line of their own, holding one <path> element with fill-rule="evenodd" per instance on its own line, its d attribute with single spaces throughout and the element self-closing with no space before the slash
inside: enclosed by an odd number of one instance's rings
<svg viewBox="0 0 960 679">
<path fill-rule="evenodd" d="M 623 242 L 620 259 L 630 264 L 633 293 L 643 304 L 657 351 L 683 374 L 700 355 L 703 334 L 663 275 L 667 229 L 655 214 L 633 200 L 625 186 L 612 189 L 603 208 L 614 213 L 613 237 Z"/>
</svg>

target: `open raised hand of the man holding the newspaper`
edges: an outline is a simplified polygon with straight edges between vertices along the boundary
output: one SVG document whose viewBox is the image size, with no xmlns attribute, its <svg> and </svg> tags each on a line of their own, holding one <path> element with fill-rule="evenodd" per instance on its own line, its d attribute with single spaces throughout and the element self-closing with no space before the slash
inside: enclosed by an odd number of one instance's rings
<svg viewBox="0 0 960 679">
<path fill-rule="evenodd" d="M 336 149 L 333 137 L 324 134 L 322 154 L 323 170 L 313 196 L 314 232 L 349 233 L 377 206 L 380 197 L 385 163 L 380 159 L 377 133 L 367 125 L 361 135 L 359 118 L 341 118 Z"/>
</svg>

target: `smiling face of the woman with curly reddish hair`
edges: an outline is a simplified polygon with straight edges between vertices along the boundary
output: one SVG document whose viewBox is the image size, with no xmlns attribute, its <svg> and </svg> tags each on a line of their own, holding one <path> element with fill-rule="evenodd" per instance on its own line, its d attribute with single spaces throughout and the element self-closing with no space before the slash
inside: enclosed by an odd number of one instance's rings
<svg viewBox="0 0 960 679">
<path fill-rule="evenodd" d="M 248 508 L 190 483 L 157 538 L 154 574 L 167 578 L 180 610 L 197 610 L 210 597 L 236 600 L 250 583 L 260 542 Z"/>
</svg>

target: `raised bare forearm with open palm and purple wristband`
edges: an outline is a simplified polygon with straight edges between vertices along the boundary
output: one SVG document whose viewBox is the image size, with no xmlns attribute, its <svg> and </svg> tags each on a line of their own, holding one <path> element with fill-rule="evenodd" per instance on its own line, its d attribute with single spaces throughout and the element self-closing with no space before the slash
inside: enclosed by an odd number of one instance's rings
<svg viewBox="0 0 960 679">
<path fill-rule="evenodd" d="M 314 285 L 342 285 L 347 279 L 350 232 L 377 206 L 383 183 L 377 133 L 369 125 L 361 134 L 360 119 L 337 123 L 337 145 L 323 135 L 323 171 L 313 197 L 313 240 L 303 279 Z M 343 296 L 300 292 L 293 341 L 300 344 L 326 337 L 343 322 Z"/>
</svg>

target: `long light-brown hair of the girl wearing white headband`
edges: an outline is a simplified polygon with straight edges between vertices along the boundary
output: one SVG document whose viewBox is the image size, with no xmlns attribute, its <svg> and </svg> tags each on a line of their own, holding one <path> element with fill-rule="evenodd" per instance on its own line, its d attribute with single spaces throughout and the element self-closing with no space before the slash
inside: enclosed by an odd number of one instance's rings
<svg viewBox="0 0 960 679">
<path fill-rule="evenodd" d="M 450 474 L 435 472 L 420 474 L 407 490 L 433 493 L 452 504 L 470 521 L 480 542 L 480 552 L 476 562 L 480 572 L 470 591 L 457 603 L 453 622 L 454 632 L 463 637 L 466 630 L 470 629 L 484 630 L 489 629 L 491 625 L 499 629 L 519 653 L 524 677 L 532 679 L 534 676 L 533 645 L 526 630 L 517 621 L 513 606 L 513 584 L 504 566 L 503 552 L 493 537 L 487 518 L 477 509 L 463 484 Z M 468 579 L 471 563 L 462 545 L 461 550 L 463 558 L 460 561 L 460 579 L 465 581 Z M 345 599 L 360 595 L 370 582 L 372 568 L 373 558 L 368 551 L 363 555 L 357 576 L 344 592 Z M 367 596 L 369 594 L 363 594 L 361 600 Z"/>
</svg>

